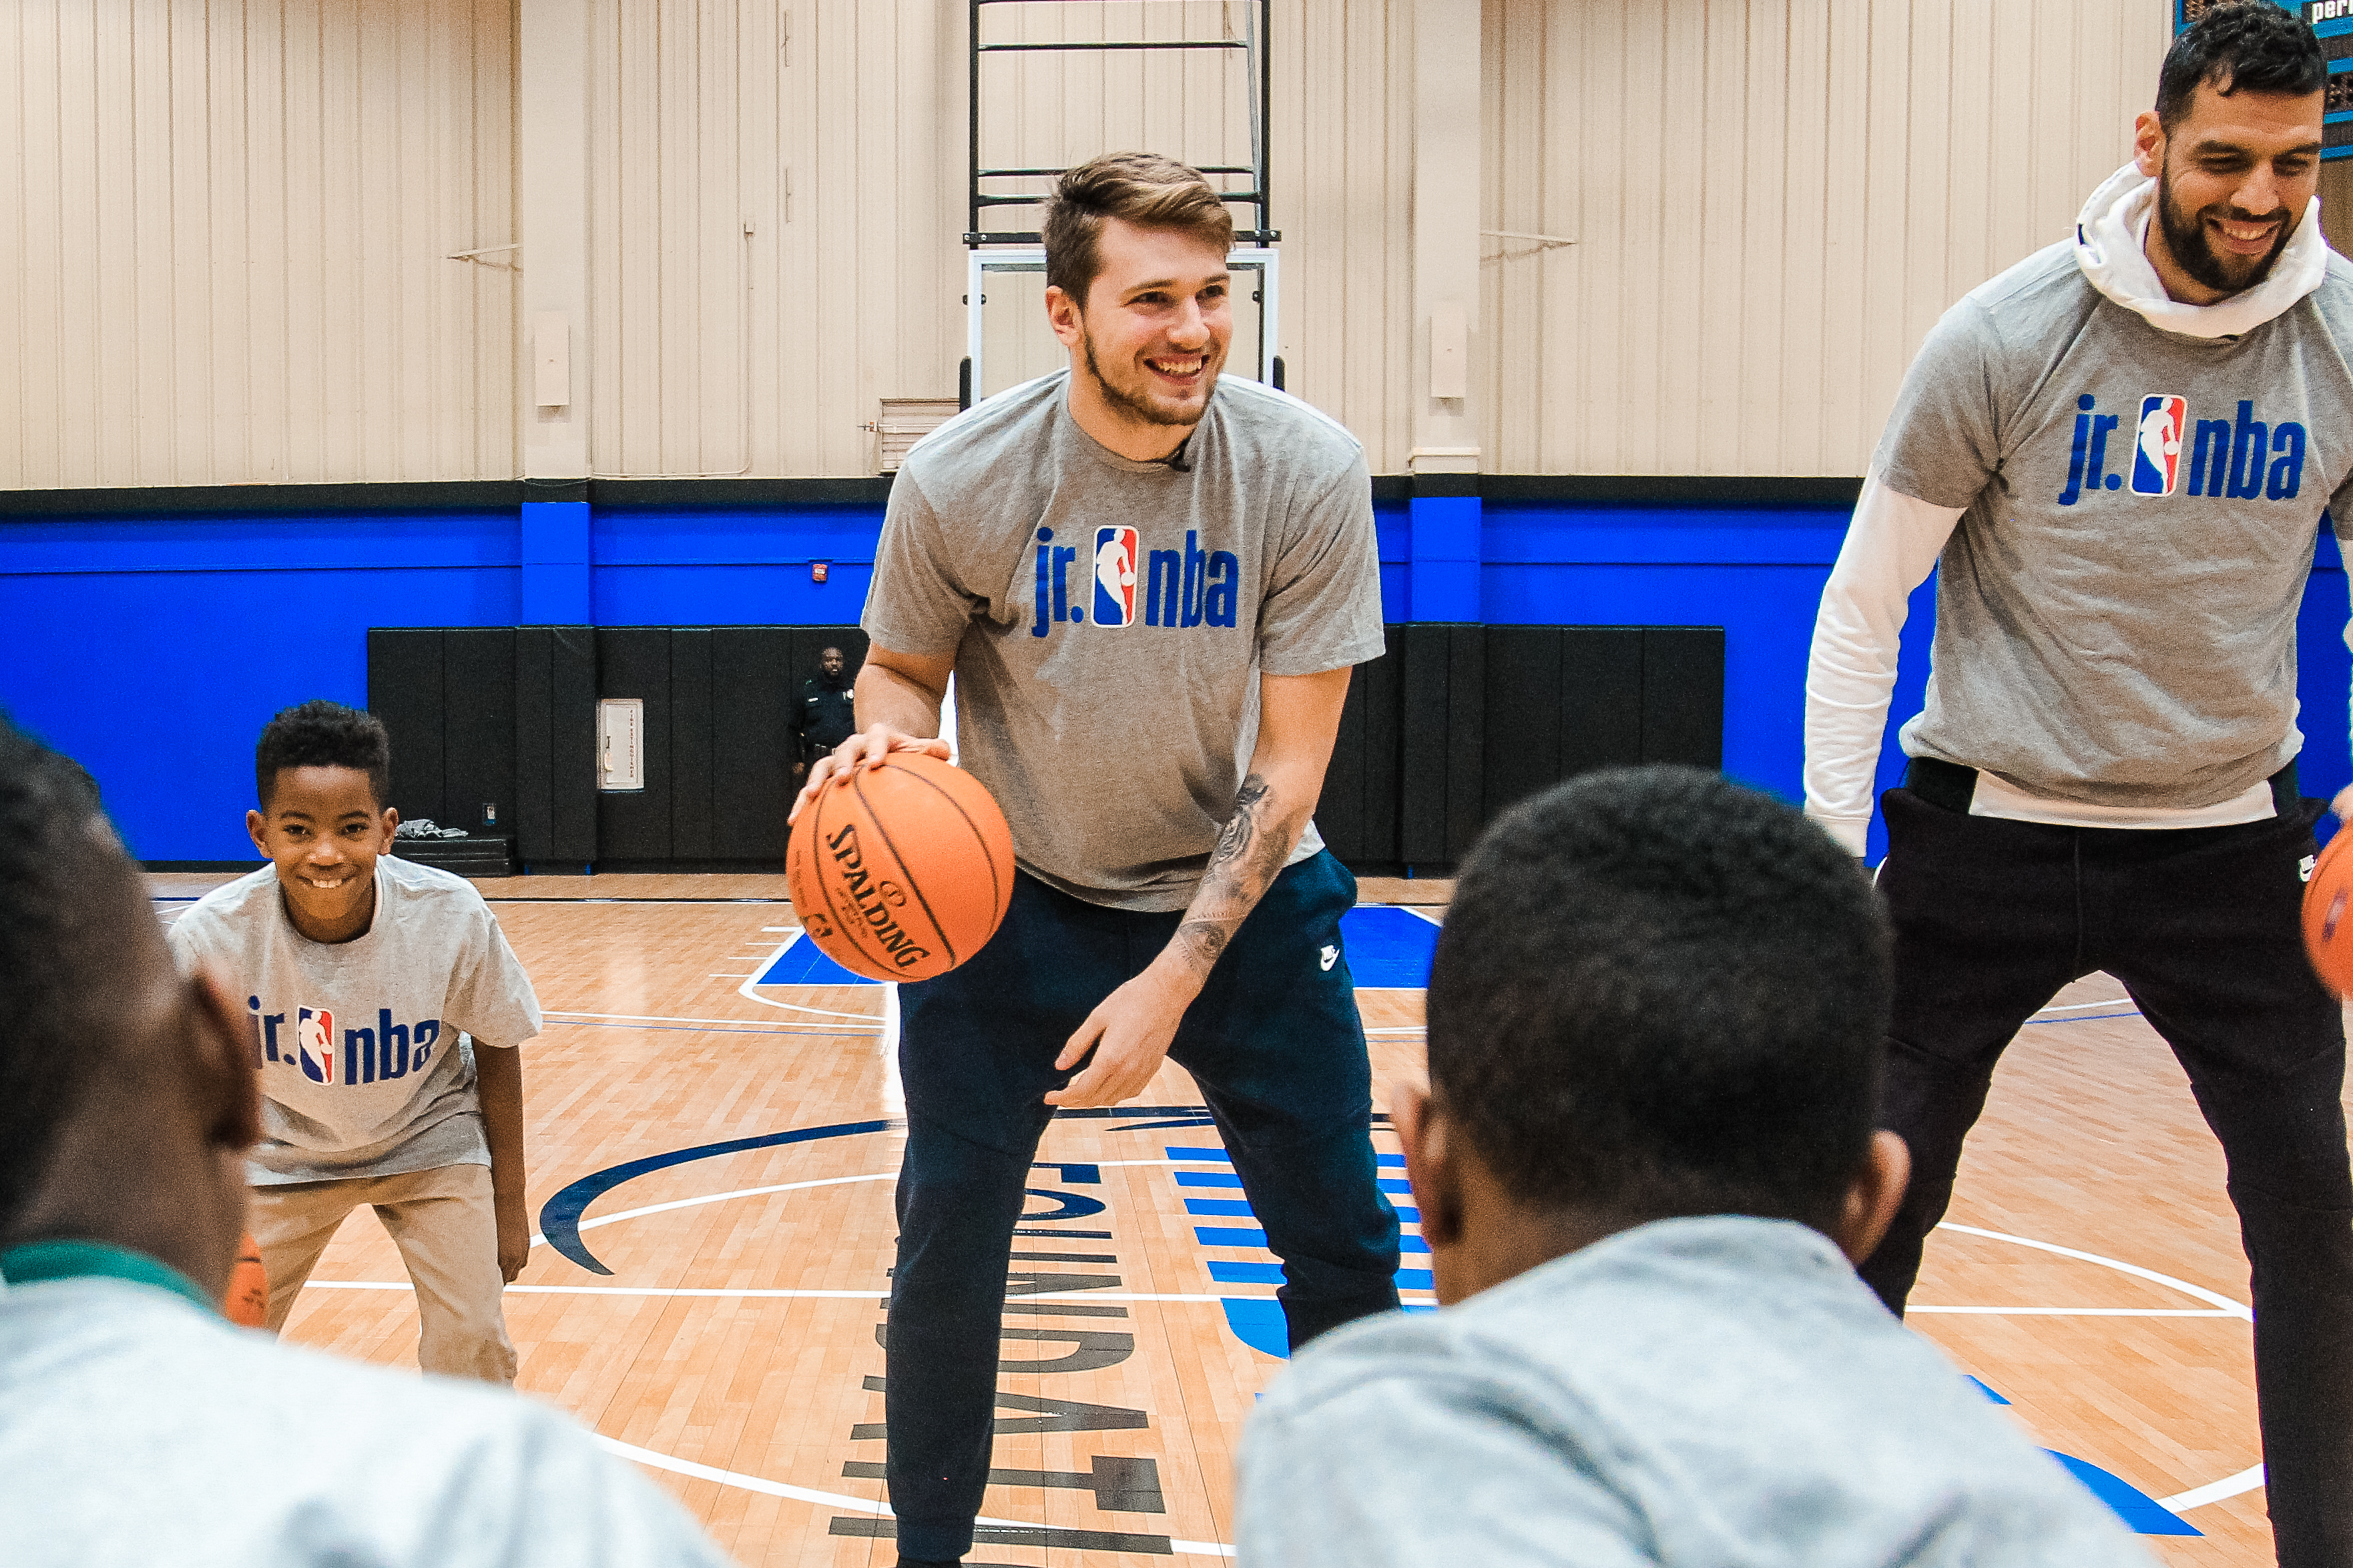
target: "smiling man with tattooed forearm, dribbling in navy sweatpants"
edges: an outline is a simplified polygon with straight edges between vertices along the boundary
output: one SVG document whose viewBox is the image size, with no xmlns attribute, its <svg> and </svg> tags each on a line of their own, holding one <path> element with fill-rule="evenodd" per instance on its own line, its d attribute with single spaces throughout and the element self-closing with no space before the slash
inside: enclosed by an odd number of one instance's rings
<svg viewBox="0 0 2353 1568">
<path fill-rule="evenodd" d="M 864 733 L 802 802 L 892 750 L 1005 806 L 1012 912 L 906 985 L 908 1147 L 889 1309 L 904 1563 L 972 1544 L 1005 1267 L 1056 1107 L 1200 1084 L 1268 1244 L 1292 1345 L 1395 1307 L 1372 1072 L 1308 820 L 1348 670 L 1381 654 L 1365 456 L 1334 421 L 1221 381 L 1233 219 L 1193 169 L 1122 153 L 1045 216 L 1071 369 L 941 425 L 892 484 L 859 672 Z"/>
</svg>

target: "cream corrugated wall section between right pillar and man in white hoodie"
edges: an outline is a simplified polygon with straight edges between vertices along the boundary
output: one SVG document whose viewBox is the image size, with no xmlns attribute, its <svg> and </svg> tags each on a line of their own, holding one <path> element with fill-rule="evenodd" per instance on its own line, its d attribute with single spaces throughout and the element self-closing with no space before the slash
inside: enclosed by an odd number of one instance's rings
<svg viewBox="0 0 2353 1568">
<path fill-rule="evenodd" d="M 1960 294 L 2066 237 L 2144 0 L 1487 0 L 1489 473 L 1854 475 Z"/>
</svg>

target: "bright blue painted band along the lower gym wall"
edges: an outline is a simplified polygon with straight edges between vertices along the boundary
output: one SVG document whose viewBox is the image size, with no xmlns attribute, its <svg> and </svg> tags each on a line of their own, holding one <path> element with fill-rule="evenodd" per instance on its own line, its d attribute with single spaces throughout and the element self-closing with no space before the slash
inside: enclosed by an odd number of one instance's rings
<svg viewBox="0 0 2353 1568">
<path fill-rule="evenodd" d="M 1431 524 L 1419 555 L 1417 520 Z M 1393 621 L 1722 625 L 1725 771 L 1798 799 L 1807 639 L 1845 522 L 1826 508 L 1384 503 L 1381 592 Z M 515 510 L 0 522 L 0 708 L 99 776 L 134 853 L 245 860 L 256 731 L 311 696 L 362 703 L 369 628 L 529 623 L 555 602 L 544 595 L 576 602 L 581 576 L 598 625 L 847 623 L 878 529 L 861 505 L 595 505 L 579 552 L 569 510 L 562 531 L 534 524 L 529 550 Z M 812 559 L 831 562 L 828 583 L 809 581 Z M 1920 708 L 1932 621 L 1929 585 L 1906 628 L 1899 719 Z M 2322 538 L 2301 616 L 2306 795 L 2353 783 L 2344 621 L 2344 564 Z M 1889 733 L 1882 788 L 1899 771 Z"/>
</svg>

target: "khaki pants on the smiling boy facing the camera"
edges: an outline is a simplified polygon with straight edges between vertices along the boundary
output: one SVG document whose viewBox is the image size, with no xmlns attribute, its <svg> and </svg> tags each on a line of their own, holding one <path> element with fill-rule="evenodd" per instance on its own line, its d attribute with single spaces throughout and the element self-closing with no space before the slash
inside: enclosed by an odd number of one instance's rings
<svg viewBox="0 0 2353 1568">
<path fill-rule="evenodd" d="M 438 1166 L 341 1182 L 252 1190 L 254 1241 L 271 1276 L 268 1328 L 278 1333 L 336 1227 L 367 1204 L 400 1248 L 416 1286 L 416 1363 L 447 1378 L 515 1382 L 515 1345 L 499 1302 L 499 1218 L 489 1166 Z"/>
</svg>

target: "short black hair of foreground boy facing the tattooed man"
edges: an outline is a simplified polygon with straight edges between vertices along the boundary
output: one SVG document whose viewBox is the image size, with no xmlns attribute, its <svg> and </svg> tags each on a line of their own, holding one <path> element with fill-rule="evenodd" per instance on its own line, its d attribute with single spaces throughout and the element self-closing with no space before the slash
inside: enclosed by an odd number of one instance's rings
<svg viewBox="0 0 2353 1568">
<path fill-rule="evenodd" d="M 1828 1229 L 1868 1157 L 1889 936 L 1857 863 L 1699 769 L 1497 820 L 1431 973 L 1431 1088 L 1539 1208 Z"/>
</svg>

